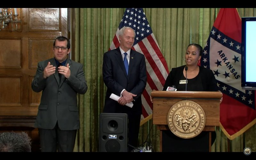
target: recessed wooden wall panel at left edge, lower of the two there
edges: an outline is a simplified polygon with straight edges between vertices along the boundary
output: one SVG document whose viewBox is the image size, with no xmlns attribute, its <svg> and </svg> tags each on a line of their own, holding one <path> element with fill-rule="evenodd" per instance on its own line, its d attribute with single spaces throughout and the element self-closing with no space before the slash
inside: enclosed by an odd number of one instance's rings
<svg viewBox="0 0 256 160">
<path fill-rule="evenodd" d="M 22 76 L 0 76 L 0 84 L 0 106 L 21 107 Z"/>
</svg>

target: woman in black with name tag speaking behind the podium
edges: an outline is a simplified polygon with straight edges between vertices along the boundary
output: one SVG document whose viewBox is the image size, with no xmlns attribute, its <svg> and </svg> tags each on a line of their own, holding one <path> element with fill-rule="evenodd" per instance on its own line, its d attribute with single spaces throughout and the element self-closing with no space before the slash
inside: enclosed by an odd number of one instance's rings
<svg viewBox="0 0 256 160">
<path fill-rule="evenodd" d="M 172 68 L 163 91 L 173 85 L 177 91 L 218 91 L 212 70 L 197 65 L 202 52 L 203 48 L 199 44 L 189 44 L 185 53 L 186 65 Z"/>
</svg>

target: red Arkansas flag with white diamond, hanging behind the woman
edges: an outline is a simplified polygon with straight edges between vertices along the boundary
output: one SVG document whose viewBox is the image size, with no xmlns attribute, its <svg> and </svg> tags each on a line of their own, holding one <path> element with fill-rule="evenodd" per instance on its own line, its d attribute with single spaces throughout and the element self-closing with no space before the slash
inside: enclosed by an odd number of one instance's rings
<svg viewBox="0 0 256 160">
<path fill-rule="evenodd" d="M 221 8 L 201 58 L 223 93 L 220 128 L 230 140 L 256 123 L 255 92 L 241 87 L 241 28 L 237 9 Z"/>
</svg>

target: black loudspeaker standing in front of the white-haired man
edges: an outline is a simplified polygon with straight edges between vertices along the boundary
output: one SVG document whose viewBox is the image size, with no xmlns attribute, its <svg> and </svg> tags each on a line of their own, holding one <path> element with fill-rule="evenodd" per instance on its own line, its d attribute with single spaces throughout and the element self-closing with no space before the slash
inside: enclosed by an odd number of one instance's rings
<svg viewBox="0 0 256 160">
<path fill-rule="evenodd" d="M 127 124 L 126 113 L 100 114 L 100 152 L 127 152 Z"/>
</svg>

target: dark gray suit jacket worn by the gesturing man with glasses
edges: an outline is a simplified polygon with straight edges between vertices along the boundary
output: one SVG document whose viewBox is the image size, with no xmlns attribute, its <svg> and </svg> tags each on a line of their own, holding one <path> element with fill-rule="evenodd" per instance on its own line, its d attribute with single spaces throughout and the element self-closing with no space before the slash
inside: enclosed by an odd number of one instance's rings
<svg viewBox="0 0 256 160">
<path fill-rule="evenodd" d="M 47 63 L 56 67 L 53 75 L 44 79 L 43 73 Z M 59 81 L 58 68 L 55 59 L 44 60 L 38 63 L 36 76 L 32 82 L 32 90 L 41 92 L 41 102 L 36 117 L 36 128 L 53 129 L 58 121 L 61 130 L 76 130 L 80 128 L 77 107 L 77 93 L 87 91 L 83 65 L 68 59 L 70 77 L 61 76 Z"/>
</svg>

